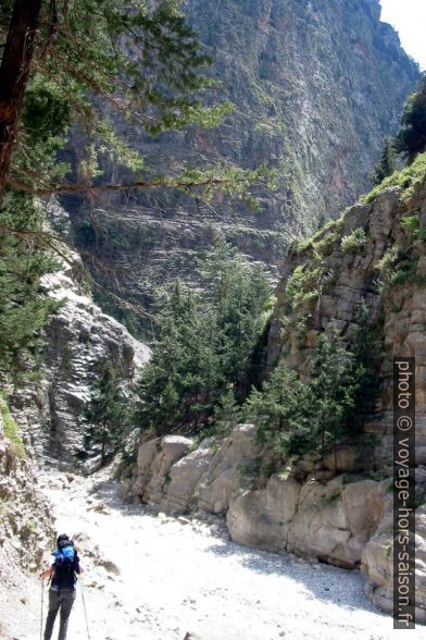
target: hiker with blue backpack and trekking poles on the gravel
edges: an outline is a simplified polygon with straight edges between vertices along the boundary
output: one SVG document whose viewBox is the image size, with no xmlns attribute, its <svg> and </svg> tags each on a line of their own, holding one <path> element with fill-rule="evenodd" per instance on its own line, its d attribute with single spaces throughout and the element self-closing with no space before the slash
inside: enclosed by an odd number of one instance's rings
<svg viewBox="0 0 426 640">
<path fill-rule="evenodd" d="M 57 540 L 57 549 L 53 552 L 54 563 L 40 574 L 40 578 L 50 577 L 49 612 L 46 619 L 45 640 L 50 640 L 58 612 L 61 610 L 61 623 L 58 640 L 66 639 L 68 618 L 73 607 L 76 592 L 76 574 L 82 574 L 79 557 L 74 543 L 66 533 L 62 533 Z"/>
</svg>

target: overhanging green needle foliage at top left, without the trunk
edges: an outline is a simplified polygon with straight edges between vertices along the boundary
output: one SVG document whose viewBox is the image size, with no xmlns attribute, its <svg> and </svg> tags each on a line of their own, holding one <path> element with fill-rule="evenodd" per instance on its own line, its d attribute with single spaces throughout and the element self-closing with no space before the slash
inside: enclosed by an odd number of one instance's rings
<svg viewBox="0 0 426 640">
<path fill-rule="evenodd" d="M 12 4 L 2 9 L 3 40 Z M 42 2 L 11 168 L 15 183 L 35 190 L 57 189 L 70 171 L 57 161 L 58 151 L 73 125 L 79 143 L 73 177 L 80 184 L 92 184 L 113 163 L 127 170 L 129 184 L 153 183 L 186 194 L 196 189 L 206 200 L 223 190 L 255 206 L 249 187 L 272 180 L 263 167 L 242 170 L 231 162 L 179 167 L 168 175 L 153 176 L 133 148 L 131 140 L 141 131 L 156 136 L 189 125 L 214 127 L 234 109 L 229 102 L 212 104 L 205 98 L 206 87 L 217 84 L 205 75 L 212 60 L 201 52 L 176 4 L 171 0 Z M 113 120 L 122 126 L 114 127 Z"/>
</svg>

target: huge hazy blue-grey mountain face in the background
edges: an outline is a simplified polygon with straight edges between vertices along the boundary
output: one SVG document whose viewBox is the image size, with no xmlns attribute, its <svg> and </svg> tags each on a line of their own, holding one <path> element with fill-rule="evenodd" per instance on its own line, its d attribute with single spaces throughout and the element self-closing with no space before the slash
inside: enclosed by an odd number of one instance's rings
<svg viewBox="0 0 426 640">
<path fill-rule="evenodd" d="M 258 190 L 255 214 L 222 197 L 209 207 L 164 192 L 111 197 L 102 207 L 115 210 L 116 220 L 105 217 L 96 229 L 86 205 L 70 198 L 77 245 L 112 260 L 122 293 L 142 307 L 171 276 L 193 278 L 195 258 L 218 234 L 276 273 L 289 238 L 367 189 L 384 136 L 394 134 L 418 79 L 396 32 L 379 22 L 378 0 L 187 0 L 184 7 L 215 60 L 212 75 L 222 84 L 212 96 L 234 102 L 235 113 L 214 131 L 154 140 L 133 133 L 131 143 L 154 174 L 204 161 L 266 162 L 279 168 L 278 188 Z M 106 177 L 120 174 L 106 167 Z M 98 278 L 115 290 L 108 274 Z"/>
</svg>

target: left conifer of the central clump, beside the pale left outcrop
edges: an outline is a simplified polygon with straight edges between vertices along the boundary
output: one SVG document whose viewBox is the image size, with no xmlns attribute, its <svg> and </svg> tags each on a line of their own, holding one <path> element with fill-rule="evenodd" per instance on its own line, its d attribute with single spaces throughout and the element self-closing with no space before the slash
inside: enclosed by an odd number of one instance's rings
<svg viewBox="0 0 426 640">
<path fill-rule="evenodd" d="M 197 428 L 212 411 L 220 372 L 211 320 L 200 312 L 198 296 L 176 283 L 139 385 L 142 429 L 167 433 L 185 424 Z"/>
</svg>

